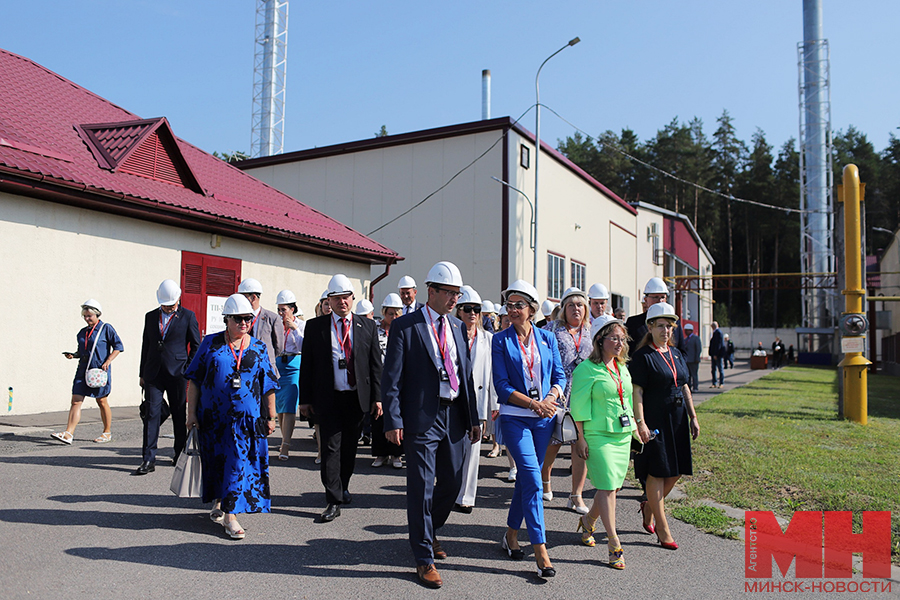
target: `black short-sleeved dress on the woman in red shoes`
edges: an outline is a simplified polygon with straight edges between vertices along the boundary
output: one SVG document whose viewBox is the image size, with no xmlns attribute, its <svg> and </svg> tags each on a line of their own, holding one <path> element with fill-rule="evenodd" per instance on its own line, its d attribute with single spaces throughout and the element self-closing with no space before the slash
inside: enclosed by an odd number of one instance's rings
<svg viewBox="0 0 900 600">
<path fill-rule="evenodd" d="M 672 361 L 678 376 L 672 381 Z M 666 360 L 669 362 L 667 363 Z M 686 400 L 678 401 L 688 382 L 687 363 L 677 348 L 669 348 L 666 358 L 652 344 L 634 353 L 628 364 L 631 382 L 643 390 L 644 422 L 650 431 L 659 435 L 644 446 L 644 452 L 634 458 L 634 474 L 641 480 L 653 477 L 693 475 L 691 466 L 691 428 Z"/>
</svg>

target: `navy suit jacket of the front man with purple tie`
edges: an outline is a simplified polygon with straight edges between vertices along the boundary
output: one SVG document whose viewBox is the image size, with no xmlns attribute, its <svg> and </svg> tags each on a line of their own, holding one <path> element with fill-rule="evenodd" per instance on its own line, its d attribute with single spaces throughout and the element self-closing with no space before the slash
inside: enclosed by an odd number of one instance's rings
<svg viewBox="0 0 900 600">
<path fill-rule="evenodd" d="M 462 321 L 450 316 L 450 328 L 456 343 L 459 365 L 459 396 L 453 410 L 468 431 L 478 424 L 475 385 L 469 346 L 462 332 Z M 388 336 L 381 376 L 381 401 L 384 430 L 403 429 L 404 437 L 428 431 L 440 408 L 441 365 L 431 344 L 425 312 L 394 319 Z"/>
</svg>

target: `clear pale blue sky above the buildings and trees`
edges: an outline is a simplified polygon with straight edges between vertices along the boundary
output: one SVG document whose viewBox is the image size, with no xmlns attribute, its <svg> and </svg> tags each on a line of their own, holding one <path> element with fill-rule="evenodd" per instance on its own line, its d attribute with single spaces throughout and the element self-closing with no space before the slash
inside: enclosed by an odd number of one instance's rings
<svg viewBox="0 0 900 600">
<path fill-rule="evenodd" d="M 832 123 L 876 150 L 900 134 L 900 2 L 824 1 Z M 250 150 L 252 0 L 6 2 L 0 46 L 140 115 L 168 117 L 212 152 Z M 629 127 L 645 140 L 677 117 L 707 134 L 723 109 L 750 141 L 797 137 L 801 0 L 291 0 L 285 150 L 492 116 L 541 100 L 592 134 Z M 534 128 L 534 116 L 524 119 Z M 544 112 L 542 138 L 573 130 Z"/>
</svg>

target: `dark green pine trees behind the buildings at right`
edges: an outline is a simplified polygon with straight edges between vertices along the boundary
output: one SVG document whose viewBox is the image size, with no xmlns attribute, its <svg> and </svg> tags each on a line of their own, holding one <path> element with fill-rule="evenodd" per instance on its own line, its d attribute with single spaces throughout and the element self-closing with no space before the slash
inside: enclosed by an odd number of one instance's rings
<svg viewBox="0 0 900 600">
<path fill-rule="evenodd" d="M 776 150 L 757 128 L 747 143 L 737 137 L 733 117 L 723 111 L 711 136 L 699 118 L 682 122 L 676 117 L 645 141 L 630 129 L 607 130 L 596 139 L 576 133 L 559 140 L 557 148 L 625 201 L 644 201 L 687 215 L 716 261 L 715 273 L 800 271 L 799 213 L 729 200 L 702 189 L 774 207 L 800 208 L 800 155 L 794 138 Z M 850 163 L 859 167 L 866 183 L 867 250 L 877 252 L 891 236 L 872 227 L 894 231 L 900 223 L 900 138 L 891 134 L 888 146 L 877 152 L 853 126 L 838 131 L 835 184 Z M 750 324 L 749 292 L 721 291 L 714 299 L 720 323 Z M 800 324 L 799 290 L 757 291 L 753 302 L 758 327 Z"/>
</svg>

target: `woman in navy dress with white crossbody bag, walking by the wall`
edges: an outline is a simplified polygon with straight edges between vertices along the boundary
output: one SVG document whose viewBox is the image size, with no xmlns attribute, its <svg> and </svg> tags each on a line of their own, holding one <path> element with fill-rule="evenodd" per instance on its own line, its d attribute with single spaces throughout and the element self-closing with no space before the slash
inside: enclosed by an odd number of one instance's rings
<svg viewBox="0 0 900 600">
<path fill-rule="evenodd" d="M 78 349 L 75 352 L 63 352 L 66 358 L 78 359 L 75 380 L 72 382 L 72 406 L 69 408 L 66 430 L 50 434 L 64 444 L 71 444 L 74 439 L 75 427 L 81 420 L 81 405 L 85 397 L 97 400 L 97 406 L 100 407 L 100 419 L 103 421 L 103 433 L 94 441 L 98 444 L 112 441 L 112 432 L 110 431 L 112 411 L 110 411 L 107 401 L 107 397 L 112 391 L 111 363 L 120 352 L 125 350 L 125 347 L 113 326 L 100 320 L 102 312 L 100 303 L 93 298 L 86 300 L 81 305 L 81 318 L 87 323 L 87 327 L 78 332 Z M 89 387 L 85 381 L 89 369 L 106 371 L 106 385 L 99 388 Z"/>
</svg>

